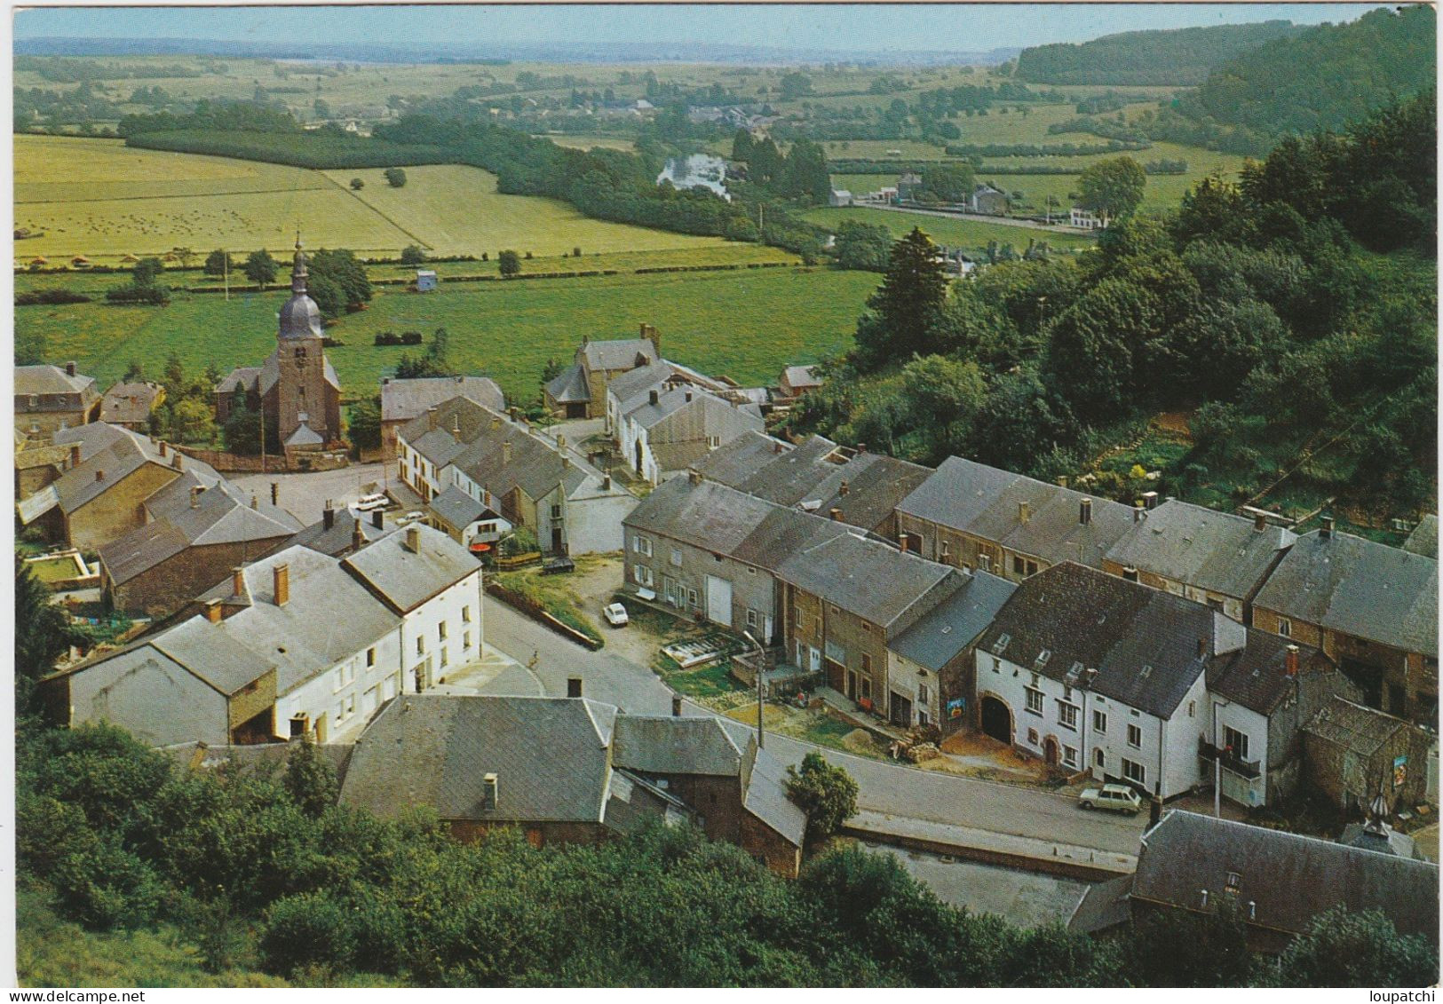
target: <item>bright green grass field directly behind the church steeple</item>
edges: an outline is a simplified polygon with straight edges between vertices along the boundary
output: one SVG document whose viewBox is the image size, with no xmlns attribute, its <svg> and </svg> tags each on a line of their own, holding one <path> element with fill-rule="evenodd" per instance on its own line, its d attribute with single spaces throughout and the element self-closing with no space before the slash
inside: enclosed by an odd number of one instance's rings
<svg viewBox="0 0 1443 1004">
<path fill-rule="evenodd" d="M 330 330 L 346 345 L 328 355 L 346 392 L 361 394 L 407 351 L 375 348 L 377 333 L 430 336 L 446 327 L 460 369 L 486 372 L 508 398 L 531 401 L 545 361 L 570 359 L 582 335 L 620 338 L 646 322 L 662 333 L 670 358 L 743 384 L 769 384 L 784 365 L 843 349 L 876 283 L 870 273 L 775 268 L 456 284 L 424 296 L 388 289 Z M 39 326 L 52 358 L 76 359 L 107 387 L 130 361 L 157 369 L 172 351 L 192 371 L 212 362 L 222 372 L 257 365 L 276 346 L 284 299 L 283 291 L 229 301 L 177 294 L 167 307 L 23 307 L 16 323 L 22 332 Z"/>
</svg>

